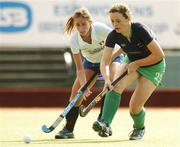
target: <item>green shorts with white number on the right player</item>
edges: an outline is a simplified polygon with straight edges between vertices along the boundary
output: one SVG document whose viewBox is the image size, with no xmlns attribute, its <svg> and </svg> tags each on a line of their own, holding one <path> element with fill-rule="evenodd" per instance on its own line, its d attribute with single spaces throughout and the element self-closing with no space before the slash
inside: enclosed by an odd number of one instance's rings
<svg viewBox="0 0 180 147">
<path fill-rule="evenodd" d="M 127 56 L 125 56 L 123 63 L 130 63 L 130 60 Z M 166 63 L 165 63 L 165 59 L 163 59 L 161 62 L 157 64 L 146 67 L 139 67 L 137 71 L 142 76 L 149 79 L 156 86 L 159 86 L 162 81 L 163 75 L 165 73 L 165 68 L 166 68 Z"/>
</svg>

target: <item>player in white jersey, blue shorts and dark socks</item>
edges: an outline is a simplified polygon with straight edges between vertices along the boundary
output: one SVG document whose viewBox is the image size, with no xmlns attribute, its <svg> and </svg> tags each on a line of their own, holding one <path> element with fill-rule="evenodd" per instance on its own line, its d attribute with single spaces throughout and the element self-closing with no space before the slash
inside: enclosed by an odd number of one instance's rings
<svg viewBox="0 0 180 147">
<path fill-rule="evenodd" d="M 104 41 L 112 29 L 103 23 L 93 22 L 91 14 L 86 8 L 80 8 L 68 19 L 65 32 L 71 34 L 71 51 L 76 65 L 76 79 L 72 86 L 69 102 L 77 94 L 80 87 L 85 85 L 94 72 L 100 73 L 100 61 L 103 54 Z M 111 78 L 113 79 L 113 70 L 116 68 L 123 56 L 117 56 L 116 51 L 112 55 L 113 62 L 110 65 Z M 98 77 L 98 76 L 97 76 Z M 97 80 L 97 78 L 94 80 Z M 93 84 L 94 84 L 93 83 Z M 90 87 L 93 86 L 91 84 Z M 90 95 L 90 87 L 84 95 L 78 100 L 74 107 L 66 116 L 66 124 L 56 135 L 55 139 L 74 138 L 74 127 L 79 115 L 79 106 L 83 99 Z M 103 102 L 102 102 L 103 105 Z M 102 108 L 101 108 L 102 110 Z M 99 114 L 100 118 L 101 113 Z"/>
</svg>

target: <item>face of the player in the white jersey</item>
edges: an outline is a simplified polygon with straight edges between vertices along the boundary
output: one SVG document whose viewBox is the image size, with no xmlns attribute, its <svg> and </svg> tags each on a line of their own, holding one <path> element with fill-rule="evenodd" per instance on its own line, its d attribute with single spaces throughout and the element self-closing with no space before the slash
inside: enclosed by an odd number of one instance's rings
<svg viewBox="0 0 180 147">
<path fill-rule="evenodd" d="M 75 18 L 74 25 L 82 37 L 88 35 L 88 32 L 91 28 L 91 22 L 83 17 Z"/>
</svg>

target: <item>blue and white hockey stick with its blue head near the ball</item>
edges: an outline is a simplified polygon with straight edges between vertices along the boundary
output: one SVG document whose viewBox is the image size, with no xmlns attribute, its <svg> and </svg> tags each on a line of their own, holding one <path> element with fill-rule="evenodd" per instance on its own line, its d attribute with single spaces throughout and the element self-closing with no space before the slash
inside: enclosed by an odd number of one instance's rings
<svg viewBox="0 0 180 147">
<path fill-rule="evenodd" d="M 97 76 L 97 73 L 95 72 L 92 77 L 89 79 L 89 81 L 78 91 L 76 96 L 72 99 L 72 101 L 67 105 L 67 107 L 64 109 L 64 112 L 59 115 L 59 117 L 55 120 L 55 122 L 50 126 L 47 127 L 47 125 L 42 126 L 42 131 L 45 133 L 52 132 L 59 123 L 63 120 L 63 118 L 68 114 L 68 112 L 71 110 L 71 108 L 76 104 L 76 102 L 79 100 L 79 98 L 83 95 L 83 93 L 86 91 L 87 87 L 91 84 L 91 82 L 94 80 L 94 78 Z"/>
</svg>

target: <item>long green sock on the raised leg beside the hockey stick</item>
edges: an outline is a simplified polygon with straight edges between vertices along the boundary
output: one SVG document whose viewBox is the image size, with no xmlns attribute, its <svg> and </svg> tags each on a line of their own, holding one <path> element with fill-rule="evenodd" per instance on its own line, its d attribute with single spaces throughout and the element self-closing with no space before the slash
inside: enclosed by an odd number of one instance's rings
<svg viewBox="0 0 180 147">
<path fill-rule="evenodd" d="M 120 100 L 121 95 L 115 91 L 110 91 L 106 94 L 101 118 L 108 123 L 108 125 L 111 124 L 114 115 L 119 108 Z"/>
</svg>

